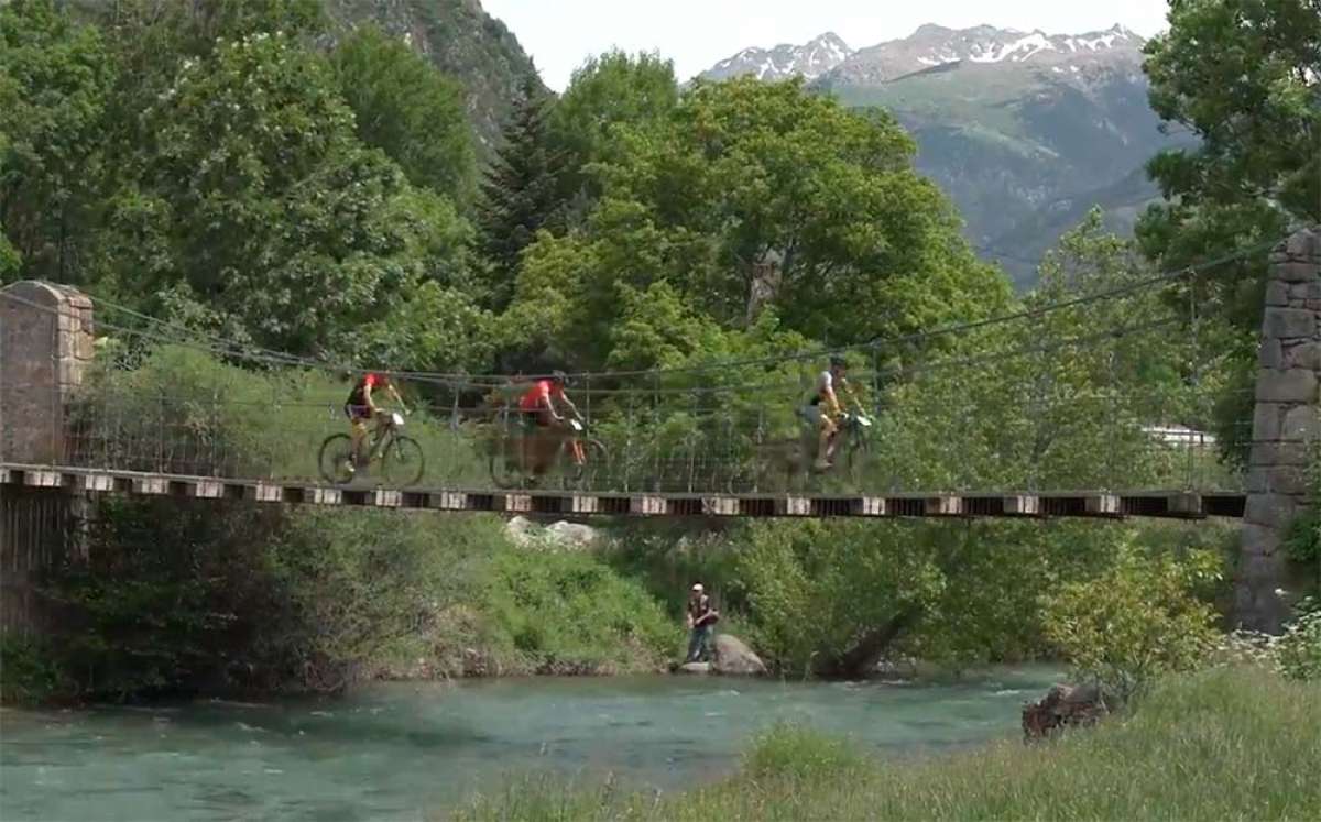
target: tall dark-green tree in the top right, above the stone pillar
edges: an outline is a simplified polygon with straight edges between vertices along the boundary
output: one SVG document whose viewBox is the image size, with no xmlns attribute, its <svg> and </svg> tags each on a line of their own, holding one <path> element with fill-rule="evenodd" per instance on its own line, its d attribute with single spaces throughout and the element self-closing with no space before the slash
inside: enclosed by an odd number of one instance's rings
<svg viewBox="0 0 1321 822">
<path fill-rule="evenodd" d="M 1201 140 L 1148 165 L 1166 202 L 1139 226 L 1147 252 L 1173 268 L 1321 222 L 1321 4 L 1173 0 L 1169 22 L 1147 45 L 1152 107 Z M 1264 259 L 1199 284 L 1252 334 Z"/>
</svg>

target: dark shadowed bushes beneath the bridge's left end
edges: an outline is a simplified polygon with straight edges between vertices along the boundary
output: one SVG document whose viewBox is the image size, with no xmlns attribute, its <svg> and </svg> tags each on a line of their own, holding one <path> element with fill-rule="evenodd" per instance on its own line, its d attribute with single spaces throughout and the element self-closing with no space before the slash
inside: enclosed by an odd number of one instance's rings
<svg viewBox="0 0 1321 822">
<path fill-rule="evenodd" d="M 61 662 L 79 692 L 122 699 L 244 682 L 252 661 L 242 650 L 277 600 L 252 570 L 280 511 L 107 501 L 96 514 L 87 560 L 70 558 L 49 581 L 78 615 Z"/>
</svg>

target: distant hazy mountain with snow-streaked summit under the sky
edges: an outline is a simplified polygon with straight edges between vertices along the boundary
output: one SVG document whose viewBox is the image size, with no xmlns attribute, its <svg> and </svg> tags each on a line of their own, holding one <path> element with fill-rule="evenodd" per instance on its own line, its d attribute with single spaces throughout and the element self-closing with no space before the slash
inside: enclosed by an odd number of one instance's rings
<svg viewBox="0 0 1321 822">
<path fill-rule="evenodd" d="M 1123 26 L 1046 34 L 925 25 L 799 74 L 849 106 L 893 111 L 918 141 L 918 168 L 959 206 L 968 238 L 1030 283 L 1041 252 L 1092 204 L 1127 230 L 1156 196 L 1140 169 L 1172 137 L 1147 104 L 1143 42 Z M 704 77 L 758 65 L 752 56 Z"/>
</svg>

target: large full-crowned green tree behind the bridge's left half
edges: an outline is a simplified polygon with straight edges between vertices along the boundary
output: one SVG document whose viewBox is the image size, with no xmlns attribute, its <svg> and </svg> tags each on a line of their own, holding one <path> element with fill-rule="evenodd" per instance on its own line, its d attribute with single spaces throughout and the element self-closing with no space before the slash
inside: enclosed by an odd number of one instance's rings
<svg viewBox="0 0 1321 822">
<path fill-rule="evenodd" d="M 144 118 L 152 137 L 111 204 L 112 274 L 156 304 L 198 304 L 226 334 L 347 348 L 427 274 L 416 250 L 445 244 L 444 207 L 410 207 L 398 167 L 358 143 L 326 62 L 288 36 L 185 59 Z"/>
</svg>

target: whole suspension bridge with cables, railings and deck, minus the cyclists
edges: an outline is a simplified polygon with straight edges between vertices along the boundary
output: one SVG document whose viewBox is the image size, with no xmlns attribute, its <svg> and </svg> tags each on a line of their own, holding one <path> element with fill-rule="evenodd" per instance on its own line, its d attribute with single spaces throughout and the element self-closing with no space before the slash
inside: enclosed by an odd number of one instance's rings
<svg viewBox="0 0 1321 822">
<path fill-rule="evenodd" d="M 511 412 L 527 378 L 380 369 L 417 412 L 386 418 L 351 481 L 328 464 L 351 365 L 20 283 L 0 292 L 0 488 L 580 517 L 1243 517 L 1248 477 L 1205 432 L 1226 390 L 1202 379 L 1223 353 L 1199 340 L 1198 285 L 1226 262 L 841 349 L 571 374 L 587 428 L 553 435 L 544 476 Z M 1297 303 L 1267 330 L 1314 336 L 1314 301 Z M 799 410 L 831 355 L 851 366 L 852 424 L 818 473 Z"/>
</svg>

